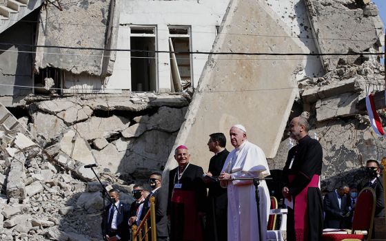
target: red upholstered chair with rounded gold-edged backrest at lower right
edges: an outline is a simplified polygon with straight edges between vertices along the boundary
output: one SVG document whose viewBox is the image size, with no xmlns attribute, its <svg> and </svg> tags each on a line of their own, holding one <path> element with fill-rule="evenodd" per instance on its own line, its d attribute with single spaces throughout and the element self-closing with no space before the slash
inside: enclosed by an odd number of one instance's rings
<svg viewBox="0 0 386 241">
<path fill-rule="evenodd" d="M 352 221 L 352 233 L 341 234 L 333 232 L 323 232 L 323 240 L 370 240 L 372 237 L 372 227 L 374 222 L 376 196 L 374 189 L 365 187 L 360 191 L 356 200 L 356 207 Z M 355 234 L 355 231 L 366 231 L 367 233 Z"/>
</svg>

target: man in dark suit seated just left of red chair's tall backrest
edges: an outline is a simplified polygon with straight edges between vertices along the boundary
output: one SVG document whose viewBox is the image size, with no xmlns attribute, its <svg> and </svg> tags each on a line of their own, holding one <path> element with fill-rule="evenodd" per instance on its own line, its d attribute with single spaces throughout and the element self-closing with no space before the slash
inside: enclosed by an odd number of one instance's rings
<svg viewBox="0 0 386 241">
<path fill-rule="evenodd" d="M 345 229 L 347 223 L 345 218 L 349 216 L 349 202 L 347 194 L 349 187 L 343 185 L 325 195 L 323 206 L 325 209 L 325 228 L 326 229 Z"/>
</svg>

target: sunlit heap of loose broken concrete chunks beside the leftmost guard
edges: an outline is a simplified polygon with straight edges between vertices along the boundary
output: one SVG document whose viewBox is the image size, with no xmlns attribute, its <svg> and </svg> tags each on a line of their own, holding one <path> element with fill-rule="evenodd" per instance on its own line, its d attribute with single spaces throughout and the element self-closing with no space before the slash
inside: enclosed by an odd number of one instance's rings
<svg viewBox="0 0 386 241">
<path fill-rule="evenodd" d="M 20 132 L 0 131 L 0 143 L 0 240 L 101 240 L 99 182 L 74 178 Z M 112 174 L 102 178 L 132 202 L 131 186 Z"/>
</svg>

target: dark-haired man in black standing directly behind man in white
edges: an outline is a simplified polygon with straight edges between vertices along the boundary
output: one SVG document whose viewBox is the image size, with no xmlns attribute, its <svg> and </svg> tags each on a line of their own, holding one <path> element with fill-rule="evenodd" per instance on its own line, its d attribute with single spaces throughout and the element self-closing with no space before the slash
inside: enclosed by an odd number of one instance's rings
<svg viewBox="0 0 386 241">
<path fill-rule="evenodd" d="M 210 134 L 207 142 L 209 151 L 214 153 L 210 158 L 208 172 L 203 181 L 209 193 L 205 219 L 205 240 L 227 240 L 227 189 L 220 186 L 219 176 L 229 151 L 225 149 L 227 139 L 223 133 Z"/>
</svg>

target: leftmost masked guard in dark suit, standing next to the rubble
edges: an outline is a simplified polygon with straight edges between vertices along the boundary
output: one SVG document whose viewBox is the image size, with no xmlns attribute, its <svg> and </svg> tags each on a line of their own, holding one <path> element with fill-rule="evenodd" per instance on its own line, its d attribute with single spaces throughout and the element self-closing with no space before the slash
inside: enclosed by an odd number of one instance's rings
<svg viewBox="0 0 386 241">
<path fill-rule="evenodd" d="M 103 237 L 107 241 L 128 241 L 129 240 L 129 207 L 125 203 L 119 201 L 119 191 L 110 189 L 109 196 L 114 202 L 113 205 L 108 205 L 105 208 L 105 216 L 102 220 Z"/>
</svg>

